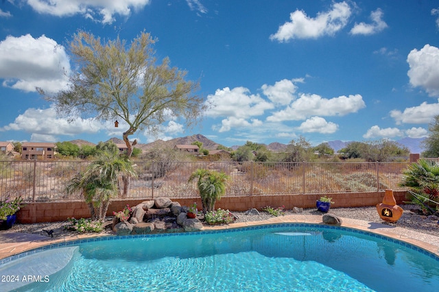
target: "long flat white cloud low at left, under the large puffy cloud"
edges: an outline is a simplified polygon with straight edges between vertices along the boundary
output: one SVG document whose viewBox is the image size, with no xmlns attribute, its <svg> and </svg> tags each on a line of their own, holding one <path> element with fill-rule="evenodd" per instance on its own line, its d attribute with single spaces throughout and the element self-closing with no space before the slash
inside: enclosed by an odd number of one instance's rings
<svg viewBox="0 0 439 292">
<path fill-rule="evenodd" d="M 92 119 L 78 119 L 73 123 L 68 123 L 66 119 L 58 118 L 55 108 L 51 107 L 43 110 L 28 108 L 15 118 L 14 123 L 0 127 L 0 131 L 23 131 L 32 133 L 32 135 L 74 136 L 83 133 L 95 134 L 103 128 L 105 128 L 104 125 Z"/>
</svg>

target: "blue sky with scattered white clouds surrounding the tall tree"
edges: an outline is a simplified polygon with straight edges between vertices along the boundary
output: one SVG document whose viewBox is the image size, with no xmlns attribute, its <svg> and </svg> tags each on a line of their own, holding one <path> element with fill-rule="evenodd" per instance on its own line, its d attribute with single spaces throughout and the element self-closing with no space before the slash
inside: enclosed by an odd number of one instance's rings
<svg viewBox="0 0 439 292">
<path fill-rule="evenodd" d="M 66 45 L 78 29 L 126 40 L 150 32 L 159 59 L 200 79 L 211 104 L 202 121 L 167 121 L 157 136 L 130 137 L 140 143 L 398 141 L 427 136 L 439 114 L 437 1 L 3 0 L 0 141 L 97 143 L 128 130 L 67 123 L 36 93 L 68 84 Z"/>
</svg>

